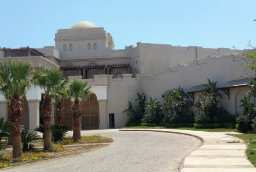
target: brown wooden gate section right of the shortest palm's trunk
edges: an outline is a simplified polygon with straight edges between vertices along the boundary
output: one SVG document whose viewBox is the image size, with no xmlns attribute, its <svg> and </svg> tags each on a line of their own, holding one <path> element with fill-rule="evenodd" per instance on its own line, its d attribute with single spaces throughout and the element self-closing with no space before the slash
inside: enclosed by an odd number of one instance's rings
<svg viewBox="0 0 256 172">
<path fill-rule="evenodd" d="M 95 94 L 90 94 L 86 101 L 82 102 L 81 128 L 98 129 L 98 101 Z"/>
</svg>

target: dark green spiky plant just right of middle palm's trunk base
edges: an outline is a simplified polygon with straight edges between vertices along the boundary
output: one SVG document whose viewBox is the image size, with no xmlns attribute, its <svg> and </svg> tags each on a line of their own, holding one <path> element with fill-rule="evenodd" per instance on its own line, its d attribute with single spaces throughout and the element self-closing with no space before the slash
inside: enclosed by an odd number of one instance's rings
<svg viewBox="0 0 256 172">
<path fill-rule="evenodd" d="M 64 125 L 51 125 L 52 140 L 54 143 L 63 140 L 69 128 Z"/>
</svg>

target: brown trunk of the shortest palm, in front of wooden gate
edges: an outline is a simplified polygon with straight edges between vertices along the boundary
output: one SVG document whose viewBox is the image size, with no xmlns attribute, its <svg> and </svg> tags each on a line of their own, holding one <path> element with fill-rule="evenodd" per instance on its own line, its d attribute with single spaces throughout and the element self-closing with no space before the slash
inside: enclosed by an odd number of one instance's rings
<svg viewBox="0 0 256 172">
<path fill-rule="evenodd" d="M 74 126 L 73 126 L 73 140 L 78 141 L 81 139 L 80 131 L 80 115 L 81 115 L 81 104 L 78 99 L 75 99 L 75 102 L 72 106 Z"/>
</svg>

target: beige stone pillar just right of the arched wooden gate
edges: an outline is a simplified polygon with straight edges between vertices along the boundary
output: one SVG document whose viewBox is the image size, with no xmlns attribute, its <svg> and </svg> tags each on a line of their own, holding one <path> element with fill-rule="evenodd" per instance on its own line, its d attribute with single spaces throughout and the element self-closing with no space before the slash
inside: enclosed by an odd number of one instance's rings
<svg viewBox="0 0 256 172">
<path fill-rule="evenodd" d="M 108 114 L 106 114 L 106 99 L 98 100 L 100 125 L 98 129 L 108 129 Z"/>
</svg>

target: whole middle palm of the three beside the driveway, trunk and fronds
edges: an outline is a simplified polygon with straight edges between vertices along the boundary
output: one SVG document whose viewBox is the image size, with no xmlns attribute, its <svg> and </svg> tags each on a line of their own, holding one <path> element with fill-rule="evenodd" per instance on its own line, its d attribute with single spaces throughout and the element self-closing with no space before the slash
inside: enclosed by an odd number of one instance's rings
<svg viewBox="0 0 256 172">
<path fill-rule="evenodd" d="M 40 117 L 44 122 L 44 150 L 52 148 L 51 141 L 51 112 L 52 97 L 57 94 L 57 90 L 63 89 L 65 81 L 62 71 L 42 67 L 40 71 L 35 71 L 34 83 L 44 90 L 42 104 L 40 106 Z"/>
</svg>

